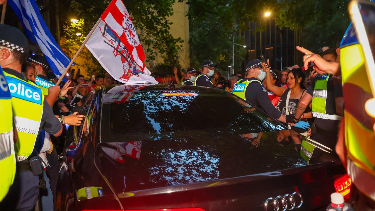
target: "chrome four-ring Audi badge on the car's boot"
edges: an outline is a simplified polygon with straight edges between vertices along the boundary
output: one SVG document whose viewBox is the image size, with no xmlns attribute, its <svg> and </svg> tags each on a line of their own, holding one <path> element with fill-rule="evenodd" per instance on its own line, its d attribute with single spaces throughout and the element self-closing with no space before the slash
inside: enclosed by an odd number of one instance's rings
<svg viewBox="0 0 375 211">
<path fill-rule="evenodd" d="M 294 208 L 300 208 L 302 206 L 303 199 L 299 192 L 292 194 L 280 195 L 276 198 L 270 197 L 264 203 L 264 210 L 266 211 L 286 211 Z"/>
</svg>

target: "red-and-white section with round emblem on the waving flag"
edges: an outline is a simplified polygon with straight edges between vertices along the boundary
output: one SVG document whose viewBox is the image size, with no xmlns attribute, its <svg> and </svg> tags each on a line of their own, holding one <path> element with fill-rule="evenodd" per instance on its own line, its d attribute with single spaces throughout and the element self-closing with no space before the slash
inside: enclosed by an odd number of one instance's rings
<svg viewBox="0 0 375 211">
<path fill-rule="evenodd" d="M 139 43 L 132 19 L 122 0 L 112 0 L 101 18 L 108 27 L 113 30 L 117 37 L 120 38 L 120 41 L 125 45 L 136 64 L 143 71 L 144 52 Z"/>
</svg>

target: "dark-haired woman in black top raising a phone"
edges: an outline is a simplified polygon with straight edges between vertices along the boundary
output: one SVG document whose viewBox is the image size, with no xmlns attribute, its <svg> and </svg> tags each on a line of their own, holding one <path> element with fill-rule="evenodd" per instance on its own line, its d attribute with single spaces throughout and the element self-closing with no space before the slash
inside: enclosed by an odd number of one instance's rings
<svg viewBox="0 0 375 211">
<path fill-rule="evenodd" d="M 305 74 L 302 72 L 301 68 L 291 69 L 287 75 L 287 85 L 288 87 L 279 87 L 272 84 L 272 73 L 270 72 L 270 67 L 263 63 L 263 70 L 266 72 L 266 86 L 271 92 L 276 96 L 281 97 L 276 108 L 285 116 L 288 114 L 295 114 L 297 110 L 297 105 L 302 96 L 306 94 L 306 88 L 303 85 L 305 81 Z M 311 107 L 311 104 L 310 104 Z M 306 113 L 302 116 L 302 121 L 309 122 L 312 124 L 312 112 L 311 109 L 306 109 Z M 289 129 L 292 129 L 300 134 L 307 135 L 308 129 L 303 130 L 301 128 L 296 128 L 288 125 Z"/>
</svg>

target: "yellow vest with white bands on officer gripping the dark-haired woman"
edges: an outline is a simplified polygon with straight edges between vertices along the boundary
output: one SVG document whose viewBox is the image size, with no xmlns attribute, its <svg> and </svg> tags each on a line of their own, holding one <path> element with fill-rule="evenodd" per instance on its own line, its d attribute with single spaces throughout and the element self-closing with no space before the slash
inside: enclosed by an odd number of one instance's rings
<svg viewBox="0 0 375 211">
<path fill-rule="evenodd" d="M 339 115 L 329 115 L 326 112 L 327 83 L 330 77 L 330 74 L 317 76 L 312 96 L 312 115 L 321 119 L 342 119 Z"/>
</svg>

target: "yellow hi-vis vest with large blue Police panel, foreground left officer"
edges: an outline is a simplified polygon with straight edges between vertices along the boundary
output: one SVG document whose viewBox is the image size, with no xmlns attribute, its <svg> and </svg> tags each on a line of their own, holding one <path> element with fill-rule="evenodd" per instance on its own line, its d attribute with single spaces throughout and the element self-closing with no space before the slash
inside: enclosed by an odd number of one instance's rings
<svg viewBox="0 0 375 211">
<path fill-rule="evenodd" d="M 43 91 L 31 81 L 4 72 L 12 95 L 12 110 L 17 128 L 14 146 L 16 160 L 25 160 L 33 152 L 43 113 Z"/>
</svg>

